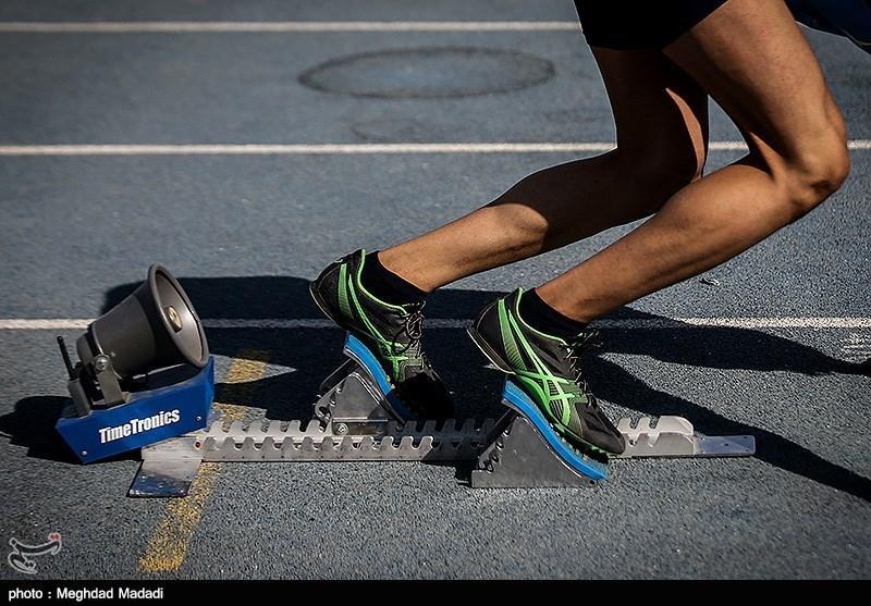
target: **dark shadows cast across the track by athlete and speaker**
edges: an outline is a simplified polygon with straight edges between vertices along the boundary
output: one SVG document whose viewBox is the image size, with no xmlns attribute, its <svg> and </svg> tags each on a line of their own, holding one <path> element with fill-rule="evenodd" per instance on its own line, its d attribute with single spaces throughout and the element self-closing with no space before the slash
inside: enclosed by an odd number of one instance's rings
<svg viewBox="0 0 871 606">
<path fill-rule="evenodd" d="M 252 276 L 182 279 L 198 313 L 205 319 L 321 319 L 308 295 L 308 282 L 298 277 Z M 106 311 L 138 284 L 109 290 Z M 473 318 L 495 292 L 442 289 L 427 302 L 428 319 Z M 624 308 L 611 319 L 663 320 L 662 317 Z M 655 359 L 713 369 L 788 371 L 807 375 L 829 373 L 863 374 L 859 364 L 832 358 L 807 345 L 757 330 L 692 326 L 685 330 L 619 330 L 604 332 L 605 350 L 648 355 Z M 245 351 L 269 355 L 269 363 L 284 367 L 250 384 L 219 383 L 216 400 L 240 404 L 235 394 L 254 394 L 246 404 L 261 408 L 275 420 L 309 419 L 320 382 L 343 361 L 340 330 L 323 329 L 210 329 L 213 354 L 240 357 Z M 455 388 L 457 417 L 496 417 L 503 375 L 483 368 L 475 346 L 456 329 L 427 331 L 427 349 L 445 382 Z M 757 440 L 757 458 L 786 471 L 871 502 L 871 481 L 830 462 L 807 448 L 775 433 L 733 421 L 684 398 L 659 392 L 629 374 L 618 364 L 592 355 L 587 369 L 593 392 L 643 415 L 682 415 L 702 433 L 751 434 Z M 442 360 L 442 363 L 439 363 Z M 63 398 L 35 397 L 21 400 L 15 412 L 0 417 L 0 431 L 13 443 L 29 446 L 29 456 L 58 458 L 62 444 L 54 438 L 53 422 Z M 471 403 L 476 403 L 474 406 Z M 486 404 L 480 404 L 486 403 Z M 53 443 L 54 446 L 49 444 Z M 60 453 L 60 454 L 59 454 Z M 65 459 L 72 460 L 66 454 Z"/>
</svg>

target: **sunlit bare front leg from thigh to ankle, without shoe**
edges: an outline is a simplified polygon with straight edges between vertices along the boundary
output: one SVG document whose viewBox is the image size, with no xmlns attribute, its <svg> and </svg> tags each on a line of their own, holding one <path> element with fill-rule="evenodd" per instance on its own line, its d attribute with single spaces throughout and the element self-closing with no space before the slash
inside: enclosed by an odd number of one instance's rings
<svg viewBox="0 0 871 606">
<path fill-rule="evenodd" d="M 750 152 L 686 186 L 647 223 L 538 288 L 579 321 L 738 255 L 813 209 L 849 171 L 841 113 L 781 0 L 731 0 L 664 54 L 716 99 Z"/>
</svg>

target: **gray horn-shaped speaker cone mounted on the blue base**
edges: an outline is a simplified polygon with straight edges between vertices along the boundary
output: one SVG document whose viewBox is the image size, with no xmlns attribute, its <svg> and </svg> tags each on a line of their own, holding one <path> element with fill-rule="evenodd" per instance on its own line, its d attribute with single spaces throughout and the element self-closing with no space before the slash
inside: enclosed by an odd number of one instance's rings
<svg viewBox="0 0 871 606">
<path fill-rule="evenodd" d="M 160 264 L 151 265 L 132 295 L 90 324 L 76 350 L 84 363 L 102 351 L 120 378 L 185 362 L 203 368 L 209 359 L 191 299 Z"/>
</svg>

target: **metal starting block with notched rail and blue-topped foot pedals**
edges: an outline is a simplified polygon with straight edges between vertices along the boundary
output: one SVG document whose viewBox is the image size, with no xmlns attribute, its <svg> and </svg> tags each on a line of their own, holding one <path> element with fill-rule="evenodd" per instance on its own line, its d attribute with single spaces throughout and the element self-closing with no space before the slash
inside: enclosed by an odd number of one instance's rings
<svg viewBox="0 0 871 606">
<path fill-rule="evenodd" d="M 347 360 L 322 383 L 312 419 L 234 421 L 143 446 L 131 496 L 185 496 L 204 461 L 469 461 L 473 487 L 582 486 L 608 465 L 573 448 L 510 379 L 499 419 L 414 421 L 381 366 L 347 335 Z M 626 450 L 614 458 L 747 457 L 753 436 L 706 436 L 682 417 L 621 419 Z"/>
</svg>

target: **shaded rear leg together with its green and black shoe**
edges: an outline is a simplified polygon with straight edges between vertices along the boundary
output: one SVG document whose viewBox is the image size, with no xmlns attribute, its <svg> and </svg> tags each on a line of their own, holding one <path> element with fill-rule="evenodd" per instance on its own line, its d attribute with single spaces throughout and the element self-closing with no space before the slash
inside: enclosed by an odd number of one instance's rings
<svg viewBox="0 0 871 606">
<path fill-rule="evenodd" d="M 347 255 L 312 281 L 318 306 L 369 347 L 410 416 L 443 418 L 452 408 L 424 355 L 417 296 L 424 293 L 414 285 L 429 292 L 643 218 L 701 174 L 701 88 L 659 51 L 603 50 L 597 60 L 616 122 L 615 151 L 540 171 L 459 221 L 377 258 Z"/>
</svg>

